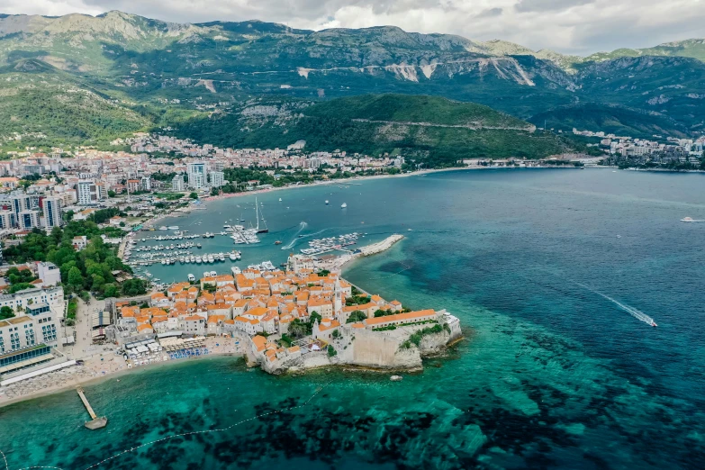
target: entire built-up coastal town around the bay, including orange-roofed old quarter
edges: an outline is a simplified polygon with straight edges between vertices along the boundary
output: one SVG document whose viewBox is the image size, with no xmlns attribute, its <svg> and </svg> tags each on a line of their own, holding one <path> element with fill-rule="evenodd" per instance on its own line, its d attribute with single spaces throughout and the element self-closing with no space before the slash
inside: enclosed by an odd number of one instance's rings
<svg viewBox="0 0 705 470">
<path fill-rule="evenodd" d="M 619 165 L 619 158 L 663 165 L 675 156 L 679 164 L 699 165 L 702 158 L 702 140 L 664 144 L 574 132 L 601 139 L 605 158 L 459 165 Z M 311 240 L 280 267 L 246 264 L 227 274 L 209 269 L 168 284 L 146 270 L 158 263 L 240 260 L 237 250 L 199 253 L 201 243 L 193 239 L 201 235 L 159 227 L 163 217 L 203 210 L 228 195 L 422 169 L 411 161 L 309 153 L 303 141 L 287 149 L 219 149 L 136 134 L 112 143 L 114 151 L 27 148 L 0 161 L 0 402 L 134 367 L 218 354 L 245 357 L 273 374 L 330 365 L 414 370 L 421 357 L 461 337 L 452 314 L 411 312 L 341 277 L 349 261 L 390 249 L 401 235 L 361 248 L 347 246 L 364 236 L 358 233 Z M 258 243 L 258 233 L 266 231 L 260 229 L 232 222 L 218 235 Z M 144 230 L 147 236 L 140 235 Z M 139 244 L 148 240 L 158 243 Z"/>
</svg>

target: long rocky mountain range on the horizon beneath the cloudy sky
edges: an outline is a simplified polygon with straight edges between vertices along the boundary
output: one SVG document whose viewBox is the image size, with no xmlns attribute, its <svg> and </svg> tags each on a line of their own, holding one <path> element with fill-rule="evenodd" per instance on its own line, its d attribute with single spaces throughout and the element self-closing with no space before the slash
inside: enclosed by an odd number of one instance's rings
<svg viewBox="0 0 705 470">
<path fill-rule="evenodd" d="M 688 135 L 705 123 L 704 58 L 703 40 L 579 58 L 389 26 L 312 32 L 256 21 L 166 23 L 121 12 L 0 15 L 5 73 L 49 64 L 62 72 L 55 79 L 71 77 L 72 86 L 158 124 L 220 119 L 253 99 L 296 106 L 393 93 L 486 104 L 568 131 L 609 124 L 635 136 Z"/>
</svg>

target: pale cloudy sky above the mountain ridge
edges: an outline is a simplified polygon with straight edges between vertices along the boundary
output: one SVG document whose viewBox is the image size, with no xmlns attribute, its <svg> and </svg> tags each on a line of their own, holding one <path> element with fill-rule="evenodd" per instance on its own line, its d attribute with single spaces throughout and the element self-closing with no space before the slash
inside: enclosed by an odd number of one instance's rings
<svg viewBox="0 0 705 470">
<path fill-rule="evenodd" d="M 258 19 L 295 28 L 393 24 L 588 54 L 705 38 L 705 0 L 0 0 L 0 13 L 122 10 L 172 22 Z"/>
</svg>

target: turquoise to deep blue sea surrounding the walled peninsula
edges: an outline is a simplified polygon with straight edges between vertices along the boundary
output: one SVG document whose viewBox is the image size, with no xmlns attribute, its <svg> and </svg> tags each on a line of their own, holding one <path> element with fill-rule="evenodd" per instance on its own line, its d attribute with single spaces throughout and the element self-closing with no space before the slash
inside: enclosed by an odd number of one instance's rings
<svg viewBox="0 0 705 470">
<path fill-rule="evenodd" d="M 705 219 L 705 176 L 455 171 L 258 198 L 271 233 L 241 248 L 242 264 L 281 263 L 298 235 L 321 230 L 403 232 L 344 276 L 411 308 L 446 308 L 466 339 L 402 382 L 275 377 L 228 357 L 140 370 L 86 386 L 110 420 L 100 431 L 83 428 L 73 391 L 16 403 L 0 409 L 9 469 L 705 467 L 705 223 L 680 222 Z M 220 231 L 240 212 L 251 219 L 253 202 L 165 224 Z"/>
</svg>

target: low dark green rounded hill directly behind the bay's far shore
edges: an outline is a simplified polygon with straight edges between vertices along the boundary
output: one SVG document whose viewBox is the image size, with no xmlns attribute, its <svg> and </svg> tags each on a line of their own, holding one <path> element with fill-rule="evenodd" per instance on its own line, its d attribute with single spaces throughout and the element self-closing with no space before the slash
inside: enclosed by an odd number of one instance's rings
<svg viewBox="0 0 705 470">
<path fill-rule="evenodd" d="M 321 104 L 252 104 L 177 129 L 183 137 L 221 147 L 345 149 L 379 155 L 403 152 L 444 166 L 462 158 L 541 158 L 569 149 L 552 134 L 478 104 L 407 95 L 361 95 Z"/>
</svg>

